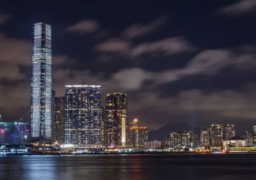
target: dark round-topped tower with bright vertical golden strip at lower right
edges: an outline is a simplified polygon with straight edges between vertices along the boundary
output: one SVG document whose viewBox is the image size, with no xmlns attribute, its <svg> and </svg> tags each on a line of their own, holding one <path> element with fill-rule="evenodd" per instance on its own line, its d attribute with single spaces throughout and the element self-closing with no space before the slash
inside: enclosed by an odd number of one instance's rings
<svg viewBox="0 0 256 180">
<path fill-rule="evenodd" d="M 113 93 L 106 96 L 105 143 L 125 146 L 128 138 L 127 94 Z"/>
</svg>

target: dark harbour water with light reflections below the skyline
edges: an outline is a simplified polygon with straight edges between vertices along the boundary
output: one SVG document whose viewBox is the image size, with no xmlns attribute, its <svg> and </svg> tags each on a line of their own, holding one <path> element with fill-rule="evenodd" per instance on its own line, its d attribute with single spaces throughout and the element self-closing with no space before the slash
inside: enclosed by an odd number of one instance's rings
<svg viewBox="0 0 256 180">
<path fill-rule="evenodd" d="M 256 154 L 0 156 L 0 179 L 256 179 Z"/>
</svg>

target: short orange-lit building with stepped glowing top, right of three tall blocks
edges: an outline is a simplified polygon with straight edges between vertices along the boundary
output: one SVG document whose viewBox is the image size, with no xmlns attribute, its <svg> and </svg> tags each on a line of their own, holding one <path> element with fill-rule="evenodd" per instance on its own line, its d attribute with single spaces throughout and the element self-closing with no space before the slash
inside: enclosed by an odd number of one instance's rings
<svg viewBox="0 0 256 180">
<path fill-rule="evenodd" d="M 147 140 L 148 128 L 146 126 L 138 126 L 138 119 L 134 119 L 129 128 L 129 145 L 134 149 L 143 149 Z"/>
</svg>

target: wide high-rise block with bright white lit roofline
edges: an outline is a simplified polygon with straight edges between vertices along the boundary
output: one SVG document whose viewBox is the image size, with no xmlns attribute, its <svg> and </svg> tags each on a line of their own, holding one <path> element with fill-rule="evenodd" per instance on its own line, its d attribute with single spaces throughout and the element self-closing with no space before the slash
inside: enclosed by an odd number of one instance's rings
<svg viewBox="0 0 256 180">
<path fill-rule="evenodd" d="M 100 86 L 65 86 L 64 143 L 101 146 Z"/>
</svg>

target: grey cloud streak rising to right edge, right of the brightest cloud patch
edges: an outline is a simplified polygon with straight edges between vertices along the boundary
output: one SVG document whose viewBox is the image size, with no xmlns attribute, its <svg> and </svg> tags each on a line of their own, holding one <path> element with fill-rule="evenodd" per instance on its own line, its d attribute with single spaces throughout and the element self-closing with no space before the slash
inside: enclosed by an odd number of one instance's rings
<svg viewBox="0 0 256 180">
<path fill-rule="evenodd" d="M 212 75 L 228 66 L 234 70 L 244 71 L 256 68 L 255 52 L 244 52 L 243 49 L 204 50 L 193 57 L 184 68 L 161 71 L 154 75 L 157 84 L 174 82 L 189 75 Z"/>
</svg>

